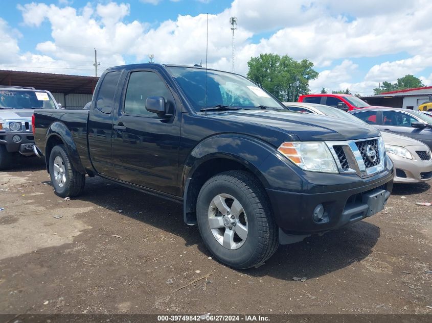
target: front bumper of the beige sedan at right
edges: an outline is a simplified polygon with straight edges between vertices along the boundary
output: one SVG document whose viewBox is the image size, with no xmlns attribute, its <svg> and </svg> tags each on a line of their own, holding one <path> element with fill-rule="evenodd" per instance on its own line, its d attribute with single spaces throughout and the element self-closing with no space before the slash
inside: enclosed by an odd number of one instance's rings
<svg viewBox="0 0 432 323">
<path fill-rule="evenodd" d="M 395 168 L 395 183 L 420 183 L 432 179 L 432 160 L 421 160 L 416 151 L 424 151 L 424 146 L 408 146 L 414 159 L 389 154 Z"/>
</svg>

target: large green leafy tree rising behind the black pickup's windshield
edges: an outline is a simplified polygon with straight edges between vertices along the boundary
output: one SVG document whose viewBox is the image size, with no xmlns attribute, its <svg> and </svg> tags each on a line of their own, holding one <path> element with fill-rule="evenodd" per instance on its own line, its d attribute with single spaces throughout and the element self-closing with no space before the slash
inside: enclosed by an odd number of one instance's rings
<svg viewBox="0 0 432 323">
<path fill-rule="evenodd" d="M 247 77 L 281 101 L 297 101 L 299 95 L 309 92 L 309 81 L 318 77 L 311 61 L 298 62 L 287 55 L 260 54 L 252 57 L 247 66 Z"/>
</svg>

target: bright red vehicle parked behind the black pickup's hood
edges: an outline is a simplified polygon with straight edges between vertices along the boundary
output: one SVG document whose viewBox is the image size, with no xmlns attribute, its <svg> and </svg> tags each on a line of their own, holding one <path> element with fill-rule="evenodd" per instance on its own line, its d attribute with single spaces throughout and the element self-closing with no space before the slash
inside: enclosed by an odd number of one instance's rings
<svg viewBox="0 0 432 323">
<path fill-rule="evenodd" d="M 351 94 L 305 94 L 300 95 L 299 102 L 323 104 L 345 111 L 371 107 L 365 101 Z"/>
</svg>

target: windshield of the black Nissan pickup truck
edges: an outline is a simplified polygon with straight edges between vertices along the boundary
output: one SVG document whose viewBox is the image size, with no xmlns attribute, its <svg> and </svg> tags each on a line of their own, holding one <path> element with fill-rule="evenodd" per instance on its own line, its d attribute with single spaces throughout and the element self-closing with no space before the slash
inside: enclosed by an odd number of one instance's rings
<svg viewBox="0 0 432 323">
<path fill-rule="evenodd" d="M 196 111 L 223 106 L 240 109 L 286 109 L 253 82 L 237 74 L 189 67 L 168 67 Z"/>
</svg>

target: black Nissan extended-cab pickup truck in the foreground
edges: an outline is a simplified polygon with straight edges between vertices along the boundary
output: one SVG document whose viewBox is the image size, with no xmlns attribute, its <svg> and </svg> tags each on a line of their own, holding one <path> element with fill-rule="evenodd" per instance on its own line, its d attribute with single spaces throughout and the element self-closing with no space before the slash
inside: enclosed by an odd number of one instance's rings
<svg viewBox="0 0 432 323">
<path fill-rule="evenodd" d="M 98 175 L 183 203 L 185 222 L 234 268 L 381 211 L 393 186 L 376 129 L 290 112 L 230 72 L 112 67 L 89 110 L 33 118 L 34 150 L 59 196 Z"/>
</svg>

